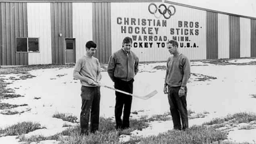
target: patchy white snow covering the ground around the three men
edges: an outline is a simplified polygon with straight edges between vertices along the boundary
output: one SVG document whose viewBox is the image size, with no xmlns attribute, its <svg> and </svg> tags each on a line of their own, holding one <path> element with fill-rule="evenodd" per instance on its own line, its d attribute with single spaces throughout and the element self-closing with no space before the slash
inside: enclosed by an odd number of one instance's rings
<svg viewBox="0 0 256 144">
<path fill-rule="evenodd" d="M 202 124 L 212 118 L 224 117 L 237 112 L 256 112 L 256 98 L 252 97 L 252 94 L 256 94 L 256 67 L 255 65 L 235 65 L 253 61 L 256 59 L 230 60 L 229 62 L 234 65 L 191 62 L 193 74 L 188 83 L 188 109 L 195 113 L 209 112 L 209 114 L 204 118 L 191 119 L 189 125 Z M 138 111 L 138 115 L 132 114 L 133 118 L 142 115 L 164 114 L 170 111 L 167 95 L 162 92 L 166 71 L 153 69 L 155 66 L 164 65 L 166 63 L 139 64 L 139 73 L 135 77 L 133 93 L 143 96 L 156 89 L 158 94 L 148 100 L 133 98 L 131 111 Z M 52 116 L 60 112 L 79 118 L 82 103 L 80 82 L 73 79 L 72 73 L 73 68 L 40 69 L 30 71 L 31 75 L 36 76 L 32 79 L 6 80 L 12 82 L 8 88 L 14 89 L 16 94 L 25 95 L 25 97 L 6 99 L 1 102 L 27 104 L 28 106 L 14 108 L 17 111 L 26 111 L 20 115 L 0 114 L 0 128 L 24 121 L 39 122 L 46 127 L 46 129 L 28 133 L 26 136 L 50 136 L 65 129 L 62 125 L 67 122 Z M 202 79 L 207 76 L 211 76 L 210 79 Z M 8 79 L 9 77 L 19 77 L 19 74 L 4 75 L 2 78 Z M 212 79 L 213 77 L 217 79 Z M 106 71 L 102 71 L 101 83 L 111 87 L 114 85 Z M 35 97 L 40 99 L 34 99 Z M 114 91 L 102 87 L 100 115 L 113 117 L 114 104 Z M 172 121 L 152 122 L 150 127 L 136 131 L 136 135 L 157 135 L 170 129 L 172 129 Z M 229 139 L 237 142 L 254 142 L 256 130 L 235 130 L 229 134 Z M 15 140 L 15 136 L 5 136 L 0 137 L 0 143 L 19 142 Z"/>
</svg>

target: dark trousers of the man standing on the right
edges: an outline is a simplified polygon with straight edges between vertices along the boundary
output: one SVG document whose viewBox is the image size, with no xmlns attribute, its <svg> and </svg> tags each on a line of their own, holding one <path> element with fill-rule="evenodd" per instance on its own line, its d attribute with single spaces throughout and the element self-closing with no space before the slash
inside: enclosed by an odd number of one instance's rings
<svg viewBox="0 0 256 144">
<path fill-rule="evenodd" d="M 172 115 L 174 129 L 188 128 L 188 110 L 187 110 L 187 87 L 185 87 L 185 95 L 179 97 L 179 89 L 181 87 L 168 86 L 168 101 Z M 182 121 L 182 125 L 181 125 Z"/>
</svg>

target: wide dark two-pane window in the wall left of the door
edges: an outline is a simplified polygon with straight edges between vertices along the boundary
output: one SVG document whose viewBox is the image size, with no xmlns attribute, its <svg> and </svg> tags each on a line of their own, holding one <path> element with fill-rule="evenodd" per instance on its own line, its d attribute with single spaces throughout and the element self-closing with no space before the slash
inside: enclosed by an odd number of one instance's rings
<svg viewBox="0 0 256 144">
<path fill-rule="evenodd" d="M 39 38 L 16 38 L 16 52 L 39 52 Z"/>
</svg>

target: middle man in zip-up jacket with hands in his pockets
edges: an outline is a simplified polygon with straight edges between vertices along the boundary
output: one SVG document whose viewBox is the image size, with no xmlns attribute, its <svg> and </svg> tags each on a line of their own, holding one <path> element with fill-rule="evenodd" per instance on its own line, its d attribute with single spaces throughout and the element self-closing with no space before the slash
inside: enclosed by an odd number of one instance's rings
<svg viewBox="0 0 256 144">
<path fill-rule="evenodd" d="M 138 57 L 130 51 L 132 39 L 125 37 L 122 49 L 113 53 L 109 57 L 108 75 L 114 82 L 114 87 L 127 93 L 133 92 L 133 77 L 138 73 Z M 130 113 L 132 96 L 120 92 L 115 92 L 115 122 L 116 129 L 126 129 L 130 127 Z M 124 107 L 123 121 L 121 115 Z"/>
</svg>

